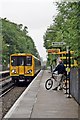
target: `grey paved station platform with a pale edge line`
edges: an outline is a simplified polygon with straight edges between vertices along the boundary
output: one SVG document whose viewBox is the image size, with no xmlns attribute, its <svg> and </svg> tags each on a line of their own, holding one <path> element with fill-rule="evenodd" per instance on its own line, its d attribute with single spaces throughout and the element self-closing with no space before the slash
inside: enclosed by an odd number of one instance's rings
<svg viewBox="0 0 80 120">
<path fill-rule="evenodd" d="M 45 81 L 51 76 L 42 70 L 15 102 L 4 118 L 78 118 L 78 104 L 67 98 L 63 90 L 46 90 Z"/>
</svg>

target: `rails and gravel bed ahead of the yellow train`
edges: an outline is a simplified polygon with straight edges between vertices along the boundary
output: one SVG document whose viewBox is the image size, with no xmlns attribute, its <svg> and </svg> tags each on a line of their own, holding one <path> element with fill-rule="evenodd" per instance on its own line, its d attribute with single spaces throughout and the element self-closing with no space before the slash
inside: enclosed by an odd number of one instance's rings
<svg viewBox="0 0 80 120">
<path fill-rule="evenodd" d="M 21 83 L 16 86 L 10 77 L 0 80 L 0 99 L 2 101 L 2 118 L 19 98 L 28 84 Z"/>
</svg>

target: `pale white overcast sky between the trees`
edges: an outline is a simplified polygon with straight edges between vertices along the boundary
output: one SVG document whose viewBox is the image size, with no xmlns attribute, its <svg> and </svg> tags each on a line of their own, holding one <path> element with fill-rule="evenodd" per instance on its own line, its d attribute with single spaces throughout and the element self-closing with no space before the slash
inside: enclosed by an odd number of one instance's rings
<svg viewBox="0 0 80 120">
<path fill-rule="evenodd" d="M 43 60 L 47 58 L 43 35 L 57 14 L 55 1 L 58 0 L 0 0 L 0 17 L 27 26 L 28 34 Z"/>
</svg>

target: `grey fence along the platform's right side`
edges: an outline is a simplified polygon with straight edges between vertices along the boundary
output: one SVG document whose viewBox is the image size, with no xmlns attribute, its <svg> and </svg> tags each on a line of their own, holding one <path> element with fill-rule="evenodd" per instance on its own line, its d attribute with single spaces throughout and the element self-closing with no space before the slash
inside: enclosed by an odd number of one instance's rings
<svg viewBox="0 0 80 120">
<path fill-rule="evenodd" d="M 80 104 L 80 69 L 71 68 L 70 71 L 70 93 Z"/>
</svg>

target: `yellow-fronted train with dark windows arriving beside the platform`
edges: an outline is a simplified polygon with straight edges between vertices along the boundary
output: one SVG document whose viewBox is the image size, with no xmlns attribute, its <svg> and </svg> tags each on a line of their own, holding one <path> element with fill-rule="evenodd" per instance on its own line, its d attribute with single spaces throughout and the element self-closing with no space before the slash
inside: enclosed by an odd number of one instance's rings
<svg viewBox="0 0 80 120">
<path fill-rule="evenodd" d="M 41 69 L 41 62 L 32 54 L 12 54 L 10 56 L 10 76 L 15 83 L 30 82 Z"/>
</svg>

